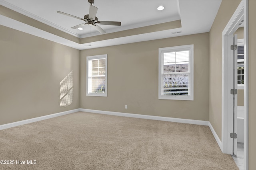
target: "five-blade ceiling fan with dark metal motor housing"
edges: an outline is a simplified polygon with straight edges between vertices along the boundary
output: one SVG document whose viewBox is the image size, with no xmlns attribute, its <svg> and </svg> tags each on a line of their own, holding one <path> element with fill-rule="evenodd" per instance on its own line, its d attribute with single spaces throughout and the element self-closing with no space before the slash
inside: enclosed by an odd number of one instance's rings
<svg viewBox="0 0 256 170">
<path fill-rule="evenodd" d="M 57 13 L 59 14 L 63 14 L 63 15 L 66 15 L 66 16 L 70 16 L 70 17 L 73 17 L 73 18 L 76 18 L 78 20 L 83 20 L 85 21 L 85 23 L 81 23 L 79 25 L 76 25 L 74 27 L 71 27 L 73 29 L 76 29 L 76 28 L 79 28 L 79 27 L 83 27 L 84 25 L 92 25 L 96 28 L 97 31 L 99 31 L 100 33 L 106 33 L 106 31 L 104 31 L 104 29 L 102 29 L 99 25 L 97 24 L 101 24 L 101 25 L 117 25 L 117 26 L 120 26 L 121 25 L 121 22 L 118 22 L 118 21 L 98 21 L 98 18 L 96 17 L 96 14 L 97 14 L 97 11 L 98 11 L 98 8 L 95 7 L 95 6 L 92 6 L 94 4 L 94 0 L 88 0 L 89 4 L 90 4 L 90 8 L 89 8 L 89 14 L 86 14 L 84 16 L 84 18 L 79 18 L 77 16 L 72 16 L 70 14 L 66 14 L 64 12 L 60 12 L 60 11 L 57 11 Z"/>
</svg>

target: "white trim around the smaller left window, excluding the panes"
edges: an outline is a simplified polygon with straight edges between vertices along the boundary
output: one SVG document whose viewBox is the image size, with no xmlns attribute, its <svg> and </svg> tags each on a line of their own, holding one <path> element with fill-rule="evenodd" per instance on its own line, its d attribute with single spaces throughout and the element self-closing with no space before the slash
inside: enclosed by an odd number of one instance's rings
<svg viewBox="0 0 256 170">
<path fill-rule="evenodd" d="M 106 85 L 105 85 L 105 93 L 89 93 L 88 92 L 88 78 L 89 78 L 89 75 L 88 75 L 88 69 L 89 69 L 89 60 L 94 60 L 94 59 L 106 59 L 106 75 L 105 75 L 105 79 L 106 79 Z M 108 76 L 108 55 L 107 54 L 104 54 L 104 55 L 94 55 L 94 56 L 87 56 L 86 57 L 86 96 L 101 96 L 101 97 L 107 97 L 107 78 Z"/>
</svg>

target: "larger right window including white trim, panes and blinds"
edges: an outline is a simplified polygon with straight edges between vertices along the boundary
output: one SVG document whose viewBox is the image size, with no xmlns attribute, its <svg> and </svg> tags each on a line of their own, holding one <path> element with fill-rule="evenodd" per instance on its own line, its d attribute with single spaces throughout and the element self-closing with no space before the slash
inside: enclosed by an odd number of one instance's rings
<svg viewBox="0 0 256 170">
<path fill-rule="evenodd" d="M 158 98 L 194 100 L 194 45 L 159 49 Z"/>
</svg>

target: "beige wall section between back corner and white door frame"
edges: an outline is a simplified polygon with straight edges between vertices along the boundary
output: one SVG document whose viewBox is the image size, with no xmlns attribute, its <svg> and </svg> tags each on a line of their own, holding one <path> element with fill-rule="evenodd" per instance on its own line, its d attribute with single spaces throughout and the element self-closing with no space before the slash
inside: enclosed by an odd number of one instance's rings
<svg viewBox="0 0 256 170">
<path fill-rule="evenodd" d="M 241 0 L 222 0 L 210 30 L 209 121 L 221 140 L 222 128 L 222 31 Z"/>
</svg>

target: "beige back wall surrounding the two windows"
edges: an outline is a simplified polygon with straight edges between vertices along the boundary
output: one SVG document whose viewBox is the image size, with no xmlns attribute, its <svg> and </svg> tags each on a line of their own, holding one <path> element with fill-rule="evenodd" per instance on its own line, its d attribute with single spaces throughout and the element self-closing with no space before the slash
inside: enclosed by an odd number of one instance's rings
<svg viewBox="0 0 256 170">
<path fill-rule="evenodd" d="M 194 44 L 194 101 L 158 99 L 158 49 Z M 108 54 L 108 97 L 86 96 L 86 56 Z M 209 33 L 81 51 L 80 107 L 208 121 Z M 128 109 L 125 109 L 128 105 Z"/>
</svg>

